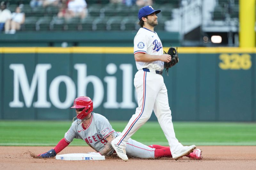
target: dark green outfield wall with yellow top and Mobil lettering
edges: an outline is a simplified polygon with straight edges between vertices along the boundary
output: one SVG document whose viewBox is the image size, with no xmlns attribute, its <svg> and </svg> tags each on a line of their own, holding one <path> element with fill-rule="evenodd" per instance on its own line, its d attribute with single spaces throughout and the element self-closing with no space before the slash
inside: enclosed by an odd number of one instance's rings
<svg viewBox="0 0 256 170">
<path fill-rule="evenodd" d="M 180 47 L 180 62 L 163 75 L 173 121 L 255 121 L 255 54 Z M 129 120 L 137 107 L 132 47 L 6 47 L 0 65 L 1 119 L 72 119 L 82 95 L 109 120 Z"/>
</svg>

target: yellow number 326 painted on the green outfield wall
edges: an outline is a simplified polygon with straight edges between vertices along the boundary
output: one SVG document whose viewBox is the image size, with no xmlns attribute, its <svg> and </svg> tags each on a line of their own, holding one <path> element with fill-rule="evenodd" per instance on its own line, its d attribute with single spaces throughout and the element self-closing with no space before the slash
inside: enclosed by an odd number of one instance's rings
<svg viewBox="0 0 256 170">
<path fill-rule="evenodd" d="M 223 70 L 248 70 L 252 67 L 251 55 L 249 54 L 220 54 L 219 67 Z"/>
</svg>

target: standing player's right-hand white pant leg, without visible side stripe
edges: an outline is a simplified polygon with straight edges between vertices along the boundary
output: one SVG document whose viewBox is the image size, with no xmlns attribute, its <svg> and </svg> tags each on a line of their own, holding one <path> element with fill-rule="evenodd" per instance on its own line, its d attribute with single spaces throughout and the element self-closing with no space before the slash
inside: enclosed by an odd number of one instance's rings
<svg viewBox="0 0 256 170">
<path fill-rule="evenodd" d="M 172 124 L 172 115 L 169 107 L 167 89 L 163 83 L 162 89 L 156 96 L 154 112 L 158 122 L 164 131 L 164 135 L 171 146 L 171 152 L 174 153 L 182 147 L 178 139 L 175 137 L 175 132 Z"/>
</svg>

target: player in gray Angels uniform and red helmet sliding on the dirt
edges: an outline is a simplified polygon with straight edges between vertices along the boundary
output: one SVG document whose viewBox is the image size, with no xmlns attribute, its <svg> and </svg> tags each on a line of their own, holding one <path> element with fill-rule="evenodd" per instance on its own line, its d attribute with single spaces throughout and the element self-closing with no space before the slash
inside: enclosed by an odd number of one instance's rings
<svg viewBox="0 0 256 170">
<path fill-rule="evenodd" d="M 74 101 L 77 120 L 74 121 L 65 133 L 63 139 L 50 151 L 39 154 L 38 158 L 55 157 L 57 153 L 70 144 L 74 138 L 84 140 L 89 146 L 97 151 L 99 155 L 111 155 L 114 149 L 111 141 L 115 139 L 120 132 L 116 132 L 108 119 L 100 114 L 93 113 L 93 102 L 89 97 L 78 97 Z M 160 157 L 172 157 L 169 147 L 160 145 L 146 146 L 131 138 L 127 141 L 127 154 L 132 157 L 155 159 Z M 190 153 L 191 159 L 202 159 L 201 150 Z"/>
</svg>

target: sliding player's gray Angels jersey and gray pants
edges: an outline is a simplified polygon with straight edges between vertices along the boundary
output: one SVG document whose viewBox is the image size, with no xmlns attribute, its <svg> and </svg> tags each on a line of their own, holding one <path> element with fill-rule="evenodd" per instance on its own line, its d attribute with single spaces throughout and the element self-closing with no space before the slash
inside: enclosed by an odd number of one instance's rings
<svg viewBox="0 0 256 170">
<path fill-rule="evenodd" d="M 112 128 L 106 117 L 97 113 L 92 113 L 91 121 L 86 129 L 84 129 L 82 123 L 77 124 L 77 121 L 80 122 L 81 120 L 78 119 L 72 123 L 69 130 L 65 133 L 65 140 L 70 143 L 74 138 L 82 139 L 97 152 L 101 151 L 107 144 L 106 137 L 112 133 L 114 133 L 115 137 L 121 134 Z M 107 154 L 110 155 L 113 152 L 114 149 Z M 155 158 L 154 148 L 150 148 L 132 139 L 129 139 L 127 142 L 126 152 L 133 157 L 145 159 Z"/>
</svg>

